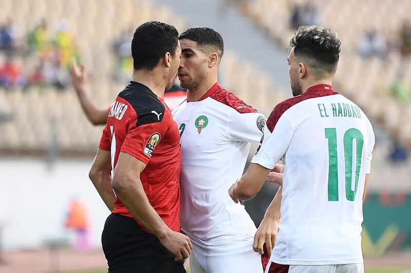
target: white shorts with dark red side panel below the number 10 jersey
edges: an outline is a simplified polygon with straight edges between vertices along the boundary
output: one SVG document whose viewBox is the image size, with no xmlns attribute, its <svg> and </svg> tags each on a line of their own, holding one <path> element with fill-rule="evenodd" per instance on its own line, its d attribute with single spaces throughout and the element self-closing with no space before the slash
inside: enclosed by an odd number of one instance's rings
<svg viewBox="0 0 411 273">
<path fill-rule="evenodd" d="M 287 268 L 288 267 L 288 270 Z M 281 268 L 281 269 L 278 269 Z M 334 265 L 289 265 L 268 262 L 265 273 L 364 273 L 364 263 Z"/>
</svg>

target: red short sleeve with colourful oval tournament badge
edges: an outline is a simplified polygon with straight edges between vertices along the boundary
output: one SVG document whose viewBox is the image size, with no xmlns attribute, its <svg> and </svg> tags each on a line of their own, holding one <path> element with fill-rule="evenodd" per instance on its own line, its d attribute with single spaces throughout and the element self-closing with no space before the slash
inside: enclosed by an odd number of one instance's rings
<svg viewBox="0 0 411 273">
<path fill-rule="evenodd" d="M 161 122 L 146 123 L 134 127 L 128 131 L 120 152 L 127 153 L 148 164 L 156 146 L 167 132 L 168 125 L 164 118 Z"/>
</svg>

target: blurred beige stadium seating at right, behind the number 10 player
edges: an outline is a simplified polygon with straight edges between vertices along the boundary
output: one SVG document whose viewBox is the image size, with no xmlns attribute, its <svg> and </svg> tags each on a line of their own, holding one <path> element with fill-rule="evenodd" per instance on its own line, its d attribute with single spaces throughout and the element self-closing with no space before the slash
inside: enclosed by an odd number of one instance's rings
<svg viewBox="0 0 411 273">
<path fill-rule="evenodd" d="M 296 7 L 301 8 L 297 26 L 293 24 Z M 342 52 L 335 75 L 335 89 L 359 104 L 391 136 L 389 143 L 380 141 L 384 134 L 379 132 L 377 135 L 378 143 L 373 153 L 373 165 L 377 167 L 373 168 L 375 172 L 370 183 L 370 190 L 375 192 L 411 190 L 411 168 L 407 163 L 411 151 L 411 104 L 393 95 L 398 82 L 407 88 L 405 92 L 411 94 L 411 62 L 403 49 L 408 45 L 404 36 L 409 39 L 406 34 L 409 30 L 405 28 L 408 27 L 406 11 L 410 8 L 411 2 L 406 0 L 395 4 L 382 0 L 378 5 L 371 0 L 350 0 L 344 5 L 338 0 L 278 0 L 275 5 L 270 0 L 255 0 L 243 1 L 241 5 L 246 15 L 285 47 L 295 27 L 304 22 L 316 22 L 337 30 L 342 40 Z M 384 37 L 388 46 L 386 56 L 364 58 L 361 55 L 359 40 L 369 30 L 375 30 Z M 400 145 L 397 146 L 398 143 Z M 388 160 L 396 156 L 397 149 L 403 149 L 401 156 L 397 157 L 401 160 Z M 386 181 L 393 182 L 387 184 Z"/>
</svg>

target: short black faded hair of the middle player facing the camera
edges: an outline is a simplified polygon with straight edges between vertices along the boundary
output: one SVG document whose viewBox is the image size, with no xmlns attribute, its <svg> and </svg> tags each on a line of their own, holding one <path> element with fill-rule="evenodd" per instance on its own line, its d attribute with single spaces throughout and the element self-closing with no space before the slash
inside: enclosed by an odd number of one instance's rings
<svg viewBox="0 0 411 273">
<path fill-rule="evenodd" d="M 224 54 L 224 41 L 220 33 L 212 28 L 189 28 L 181 33 L 178 39 L 195 41 L 199 47 L 213 47 L 220 58 Z"/>
</svg>

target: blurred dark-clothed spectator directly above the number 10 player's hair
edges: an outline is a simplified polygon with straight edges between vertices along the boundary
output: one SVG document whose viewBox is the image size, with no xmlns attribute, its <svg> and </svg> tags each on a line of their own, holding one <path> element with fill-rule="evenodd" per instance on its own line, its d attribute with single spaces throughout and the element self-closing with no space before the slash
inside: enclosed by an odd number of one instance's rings
<svg viewBox="0 0 411 273">
<path fill-rule="evenodd" d="M 319 25 L 316 6 L 310 3 L 307 3 L 304 6 L 294 5 L 290 17 L 291 28 L 296 30 L 298 27 L 308 25 Z"/>
</svg>

